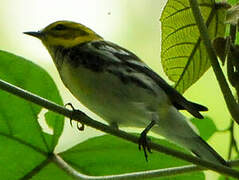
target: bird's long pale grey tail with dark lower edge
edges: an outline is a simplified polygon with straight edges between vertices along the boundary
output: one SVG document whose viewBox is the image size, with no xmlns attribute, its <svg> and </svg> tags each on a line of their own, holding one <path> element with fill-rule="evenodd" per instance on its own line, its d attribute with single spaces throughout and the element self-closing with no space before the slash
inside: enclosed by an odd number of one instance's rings
<svg viewBox="0 0 239 180">
<path fill-rule="evenodd" d="M 157 126 L 152 128 L 153 132 L 191 150 L 201 159 L 229 166 L 207 142 L 195 133 L 186 118 L 174 106 L 168 109 L 167 114 L 159 115 L 161 116 L 158 117 Z"/>
</svg>

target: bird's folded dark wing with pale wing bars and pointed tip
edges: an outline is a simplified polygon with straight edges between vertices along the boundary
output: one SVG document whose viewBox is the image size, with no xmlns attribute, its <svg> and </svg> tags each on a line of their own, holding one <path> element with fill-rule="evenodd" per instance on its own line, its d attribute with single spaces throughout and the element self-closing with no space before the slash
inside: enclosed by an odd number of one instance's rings
<svg viewBox="0 0 239 180">
<path fill-rule="evenodd" d="M 101 58 L 101 60 L 105 59 L 105 62 L 101 62 L 100 64 L 124 64 L 137 72 L 146 74 L 165 91 L 171 103 L 177 109 L 185 109 L 199 119 L 203 118 L 203 116 L 200 114 L 200 111 L 208 110 L 207 107 L 190 102 L 186 98 L 184 98 L 177 90 L 171 87 L 164 79 L 162 79 L 157 73 L 150 69 L 132 52 L 107 41 L 94 41 L 87 43 L 87 46 L 88 47 L 85 48 L 85 50 L 91 51 L 91 55 L 93 54 L 94 56 L 98 56 Z M 92 51 L 94 52 L 92 53 Z"/>
</svg>

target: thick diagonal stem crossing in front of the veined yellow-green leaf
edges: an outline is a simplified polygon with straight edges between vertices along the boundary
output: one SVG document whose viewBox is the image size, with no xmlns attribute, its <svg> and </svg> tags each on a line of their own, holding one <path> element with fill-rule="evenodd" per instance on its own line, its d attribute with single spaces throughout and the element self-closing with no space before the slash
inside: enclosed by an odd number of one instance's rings
<svg viewBox="0 0 239 180">
<path fill-rule="evenodd" d="M 218 63 L 215 49 L 212 46 L 210 37 L 207 32 L 207 27 L 203 21 L 197 0 L 189 0 L 190 6 L 192 8 L 193 16 L 196 20 L 198 30 L 200 32 L 200 37 L 202 38 L 204 45 L 206 47 L 213 71 L 216 75 L 216 78 L 219 82 L 222 94 L 226 101 L 229 112 L 231 113 L 232 118 L 239 124 L 239 106 L 236 100 L 233 97 L 233 94 L 229 88 L 229 85 L 226 81 L 226 78 L 222 72 L 222 69 Z"/>
</svg>

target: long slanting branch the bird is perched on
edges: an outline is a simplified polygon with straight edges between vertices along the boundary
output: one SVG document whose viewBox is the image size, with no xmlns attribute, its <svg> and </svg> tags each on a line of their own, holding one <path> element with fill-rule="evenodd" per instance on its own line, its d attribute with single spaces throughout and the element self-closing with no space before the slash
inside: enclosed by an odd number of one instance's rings
<svg viewBox="0 0 239 180">
<path fill-rule="evenodd" d="M 57 112 L 59 114 L 62 114 L 62 115 L 67 116 L 69 118 L 72 118 L 72 119 L 74 119 L 74 120 L 76 120 L 80 123 L 86 124 L 86 125 L 91 126 L 95 129 L 98 129 L 100 131 L 112 134 L 114 136 L 117 136 L 117 137 L 120 137 L 120 138 L 123 138 L 125 140 L 128 140 L 128 141 L 131 141 L 131 142 L 134 142 L 134 143 L 138 144 L 138 137 L 135 136 L 135 135 L 128 134 L 124 131 L 114 129 L 114 128 L 112 128 L 110 126 L 107 126 L 103 123 L 95 121 L 95 120 L 89 118 L 88 116 L 86 116 L 83 112 L 76 111 L 77 113 L 73 113 L 75 111 L 70 111 L 70 110 L 68 110 L 68 109 L 66 109 L 62 106 L 57 105 L 54 102 L 51 102 L 51 101 L 46 100 L 42 97 L 39 97 L 39 96 L 37 96 L 37 95 L 35 95 L 31 92 L 23 90 L 23 89 L 21 89 L 19 87 L 16 87 L 16 86 L 14 86 L 14 85 L 12 85 L 8 82 L 5 82 L 3 80 L 0 80 L 0 89 L 5 90 L 9 93 L 12 93 L 16 96 L 19 96 L 19 97 L 21 97 L 25 100 L 31 101 L 35 104 L 38 104 L 39 106 L 45 107 L 45 108 L 47 108 L 47 109 L 49 109 L 53 112 Z M 167 147 L 164 147 L 162 145 L 155 144 L 153 142 L 150 142 L 149 146 L 151 147 L 151 149 L 154 149 L 158 152 L 162 152 L 162 153 L 177 157 L 179 159 L 197 164 L 199 166 L 203 166 L 205 168 L 217 171 L 221 174 L 225 174 L 225 175 L 228 175 L 228 176 L 239 178 L 239 172 L 234 170 L 234 169 L 231 169 L 231 168 L 228 168 L 228 167 L 225 167 L 225 166 L 222 166 L 222 165 L 214 164 L 212 162 L 202 160 L 200 158 L 194 157 L 194 156 L 189 155 L 187 153 L 183 153 L 183 152 L 171 149 L 171 148 L 167 148 Z"/>
</svg>

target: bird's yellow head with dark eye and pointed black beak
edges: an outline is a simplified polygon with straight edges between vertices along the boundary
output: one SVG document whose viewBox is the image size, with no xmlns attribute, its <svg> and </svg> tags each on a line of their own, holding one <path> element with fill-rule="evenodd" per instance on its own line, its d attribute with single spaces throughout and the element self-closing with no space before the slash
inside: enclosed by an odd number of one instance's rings
<svg viewBox="0 0 239 180">
<path fill-rule="evenodd" d="M 41 39 L 47 48 L 50 46 L 68 48 L 84 42 L 102 39 L 86 26 L 71 21 L 57 21 L 42 31 L 25 32 L 25 34 Z"/>
</svg>

